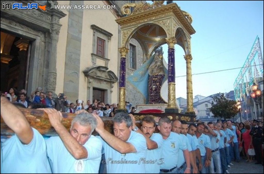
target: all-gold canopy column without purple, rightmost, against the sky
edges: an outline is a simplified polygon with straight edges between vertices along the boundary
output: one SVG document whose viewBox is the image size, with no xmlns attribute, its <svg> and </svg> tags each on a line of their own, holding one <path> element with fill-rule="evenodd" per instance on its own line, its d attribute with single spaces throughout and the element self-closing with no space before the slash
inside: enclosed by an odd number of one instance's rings
<svg viewBox="0 0 264 174">
<path fill-rule="evenodd" d="M 186 83 L 187 83 L 187 110 L 185 114 L 195 115 L 194 106 L 192 103 L 192 55 L 187 54 L 184 56 L 186 60 Z"/>
</svg>

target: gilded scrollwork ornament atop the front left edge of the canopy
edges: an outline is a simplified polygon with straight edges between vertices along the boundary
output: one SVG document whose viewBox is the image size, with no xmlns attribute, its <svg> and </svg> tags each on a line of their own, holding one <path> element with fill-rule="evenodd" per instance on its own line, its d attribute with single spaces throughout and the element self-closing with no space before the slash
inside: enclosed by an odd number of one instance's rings
<svg viewBox="0 0 264 174">
<path fill-rule="evenodd" d="M 131 15 L 136 14 L 140 12 L 144 12 L 146 10 L 150 10 L 156 7 L 161 7 L 164 4 L 164 1 L 152 1 L 153 3 L 150 5 L 150 3 L 126 3 L 121 7 L 122 14 Z M 130 7 L 134 7 L 133 12 L 131 13 Z"/>
</svg>

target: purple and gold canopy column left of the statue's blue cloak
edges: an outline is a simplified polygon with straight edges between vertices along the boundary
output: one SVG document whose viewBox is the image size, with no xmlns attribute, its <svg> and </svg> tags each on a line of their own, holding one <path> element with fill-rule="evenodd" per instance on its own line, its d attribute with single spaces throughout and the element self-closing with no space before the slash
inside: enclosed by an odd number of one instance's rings
<svg viewBox="0 0 264 174">
<path fill-rule="evenodd" d="M 118 110 L 126 110 L 125 105 L 125 95 L 126 95 L 126 54 L 128 53 L 128 48 L 121 47 L 119 52 L 121 54 L 120 59 L 120 72 L 119 72 L 119 101 Z"/>
</svg>

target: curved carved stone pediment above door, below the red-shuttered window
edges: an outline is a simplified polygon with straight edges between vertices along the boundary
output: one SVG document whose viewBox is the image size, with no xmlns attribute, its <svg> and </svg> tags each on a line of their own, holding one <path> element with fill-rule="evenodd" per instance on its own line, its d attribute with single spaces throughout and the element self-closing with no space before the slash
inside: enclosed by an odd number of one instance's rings
<svg viewBox="0 0 264 174">
<path fill-rule="evenodd" d="M 86 68 L 83 71 L 84 75 L 87 78 L 93 78 L 97 80 L 105 80 L 108 82 L 115 83 L 118 78 L 113 71 L 108 71 L 108 68 L 105 66 L 96 66 L 94 68 Z"/>
</svg>

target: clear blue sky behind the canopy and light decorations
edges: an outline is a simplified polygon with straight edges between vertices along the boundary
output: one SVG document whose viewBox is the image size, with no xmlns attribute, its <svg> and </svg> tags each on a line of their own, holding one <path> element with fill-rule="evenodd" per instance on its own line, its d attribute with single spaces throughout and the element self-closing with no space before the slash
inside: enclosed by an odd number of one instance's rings
<svg viewBox="0 0 264 174">
<path fill-rule="evenodd" d="M 191 35 L 192 74 L 242 67 L 257 35 L 263 56 L 263 1 L 174 2 L 193 18 L 191 25 L 196 33 Z M 175 74 L 186 75 L 185 53 L 178 45 L 175 50 Z M 239 71 L 193 75 L 193 97 L 234 90 Z M 176 77 L 178 97 L 186 98 L 186 76 Z"/>
</svg>

